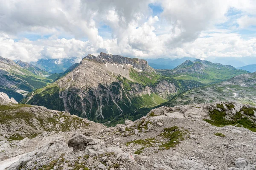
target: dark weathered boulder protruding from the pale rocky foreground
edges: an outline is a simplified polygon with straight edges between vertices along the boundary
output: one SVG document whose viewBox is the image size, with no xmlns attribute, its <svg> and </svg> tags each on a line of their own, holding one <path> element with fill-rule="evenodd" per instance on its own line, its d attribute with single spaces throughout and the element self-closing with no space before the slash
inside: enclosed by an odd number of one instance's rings
<svg viewBox="0 0 256 170">
<path fill-rule="evenodd" d="M 74 151 L 83 150 L 89 142 L 92 142 L 93 139 L 91 139 L 88 136 L 85 136 L 81 133 L 76 134 L 73 136 L 68 142 L 68 147 L 73 147 Z"/>
</svg>

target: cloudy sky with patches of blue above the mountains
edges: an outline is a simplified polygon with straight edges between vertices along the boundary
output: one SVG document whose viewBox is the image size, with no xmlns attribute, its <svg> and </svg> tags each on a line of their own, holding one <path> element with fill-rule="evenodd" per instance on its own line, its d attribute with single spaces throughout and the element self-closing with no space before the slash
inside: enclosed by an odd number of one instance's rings
<svg viewBox="0 0 256 170">
<path fill-rule="evenodd" d="M 256 0 L 0 0 L 0 56 L 256 57 Z"/>
</svg>

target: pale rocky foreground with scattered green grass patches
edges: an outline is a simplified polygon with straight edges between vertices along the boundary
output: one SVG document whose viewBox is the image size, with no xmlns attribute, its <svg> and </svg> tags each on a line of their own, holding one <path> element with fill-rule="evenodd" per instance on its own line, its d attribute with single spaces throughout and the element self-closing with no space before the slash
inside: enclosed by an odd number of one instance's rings
<svg viewBox="0 0 256 170">
<path fill-rule="evenodd" d="M 17 105 L 0 104 L 9 122 L 0 125 L 0 170 L 256 170 L 256 108 L 250 105 L 161 107 L 116 127 Z M 15 123 L 3 116 L 22 111 L 34 116 Z M 50 121 L 37 126 L 40 115 Z"/>
</svg>

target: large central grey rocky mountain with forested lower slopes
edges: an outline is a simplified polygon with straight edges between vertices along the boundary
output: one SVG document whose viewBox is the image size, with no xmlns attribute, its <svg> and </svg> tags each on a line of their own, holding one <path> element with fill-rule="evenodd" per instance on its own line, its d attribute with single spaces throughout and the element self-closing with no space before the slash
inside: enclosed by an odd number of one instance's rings
<svg viewBox="0 0 256 170">
<path fill-rule="evenodd" d="M 118 116 L 138 119 L 149 108 L 201 85 L 161 77 L 143 59 L 88 54 L 72 71 L 30 93 L 22 102 L 65 110 L 94 121 L 114 122 Z"/>
</svg>

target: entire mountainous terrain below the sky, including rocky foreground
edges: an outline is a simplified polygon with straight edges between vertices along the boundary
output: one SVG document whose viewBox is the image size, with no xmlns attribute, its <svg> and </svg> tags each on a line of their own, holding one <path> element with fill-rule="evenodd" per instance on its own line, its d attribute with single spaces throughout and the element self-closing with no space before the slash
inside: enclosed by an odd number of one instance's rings
<svg viewBox="0 0 256 170">
<path fill-rule="evenodd" d="M 0 57 L 0 169 L 256 170 L 256 73 L 105 53 L 51 75 L 16 62 Z"/>
</svg>

